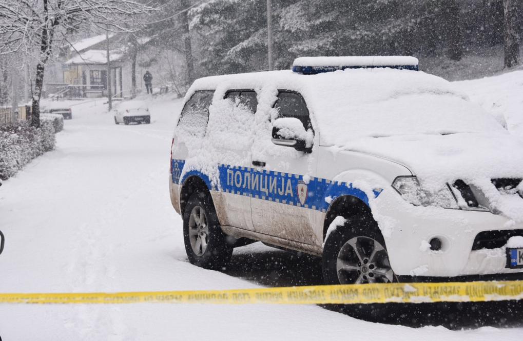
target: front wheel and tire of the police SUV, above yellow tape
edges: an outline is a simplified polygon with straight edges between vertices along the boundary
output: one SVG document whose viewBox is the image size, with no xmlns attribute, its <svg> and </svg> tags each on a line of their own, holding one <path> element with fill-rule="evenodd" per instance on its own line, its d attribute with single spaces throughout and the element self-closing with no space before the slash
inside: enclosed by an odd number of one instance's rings
<svg viewBox="0 0 523 341">
<path fill-rule="evenodd" d="M 325 284 L 390 283 L 397 281 L 378 224 L 354 216 L 329 234 L 323 248 Z"/>
</svg>

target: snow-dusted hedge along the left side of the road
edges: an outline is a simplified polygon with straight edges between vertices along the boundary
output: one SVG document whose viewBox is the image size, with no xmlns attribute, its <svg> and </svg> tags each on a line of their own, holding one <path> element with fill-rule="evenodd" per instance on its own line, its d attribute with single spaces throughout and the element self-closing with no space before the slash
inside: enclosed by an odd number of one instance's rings
<svg viewBox="0 0 523 341">
<path fill-rule="evenodd" d="M 42 120 L 41 127 L 27 122 L 0 126 L 0 179 L 15 175 L 32 159 L 54 149 L 54 120 Z"/>
</svg>

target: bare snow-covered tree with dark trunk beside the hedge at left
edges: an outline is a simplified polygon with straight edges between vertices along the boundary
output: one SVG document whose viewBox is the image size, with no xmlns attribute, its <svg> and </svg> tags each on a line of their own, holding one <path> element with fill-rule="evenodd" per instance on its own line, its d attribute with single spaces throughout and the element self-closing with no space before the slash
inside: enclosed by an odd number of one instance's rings
<svg viewBox="0 0 523 341">
<path fill-rule="evenodd" d="M 0 54 L 36 59 L 32 125 L 40 126 L 44 70 L 57 43 L 93 25 L 127 31 L 138 15 L 151 10 L 134 0 L 0 0 Z"/>
</svg>

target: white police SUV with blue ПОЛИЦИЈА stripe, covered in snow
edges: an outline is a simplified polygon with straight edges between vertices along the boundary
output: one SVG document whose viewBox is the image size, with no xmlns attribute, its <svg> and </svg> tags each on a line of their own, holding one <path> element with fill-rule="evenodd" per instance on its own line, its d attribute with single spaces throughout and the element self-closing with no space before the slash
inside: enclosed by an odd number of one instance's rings
<svg viewBox="0 0 523 341">
<path fill-rule="evenodd" d="M 192 264 L 257 240 L 328 284 L 523 274 L 523 141 L 414 57 L 198 79 L 171 153 Z"/>
</svg>

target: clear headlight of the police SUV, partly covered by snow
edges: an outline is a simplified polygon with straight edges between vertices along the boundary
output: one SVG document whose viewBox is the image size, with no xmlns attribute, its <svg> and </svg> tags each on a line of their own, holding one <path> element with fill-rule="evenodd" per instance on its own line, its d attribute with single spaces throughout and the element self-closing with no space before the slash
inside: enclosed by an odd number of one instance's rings
<svg viewBox="0 0 523 341">
<path fill-rule="evenodd" d="M 422 189 L 416 177 L 397 177 L 392 187 L 408 202 L 416 206 L 437 206 L 443 208 L 459 208 L 456 198 L 447 184 L 439 191 L 430 192 Z"/>
</svg>

